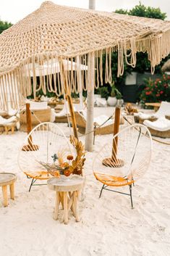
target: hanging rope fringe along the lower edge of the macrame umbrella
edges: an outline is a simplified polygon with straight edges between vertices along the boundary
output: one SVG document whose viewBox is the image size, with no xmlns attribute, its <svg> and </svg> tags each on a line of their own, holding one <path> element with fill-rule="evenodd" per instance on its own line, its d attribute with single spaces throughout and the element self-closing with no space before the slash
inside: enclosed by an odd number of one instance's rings
<svg viewBox="0 0 170 256">
<path fill-rule="evenodd" d="M 67 82 L 69 91 L 78 94 L 80 91 L 90 91 L 91 88 L 98 88 L 104 83 L 112 83 L 111 55 L 118 51 L 117 75 L 124 73 L 124 61 L 135 67 L 137 51 L 148 53 L 151 71 L 170 52 L 170 31 L 164 31 L 156 36 L 146 38 L 131 38 L 129 41 L 118 41 L 116 46 L 93 51 L 95 63 L 95 85 L 88 83 L 88 70 L 90 70 L 91 54 L 82 54 L 77 57 L 57 57 L 56 54 L 42 54 L 31 57 L 22 64 L 10 71 L 0 75 L 0 109 L 8 111 L 9 106 L 16 109 L 23 104 L 24 99 L 30 94 L 34 98 L 38 91 L 43 94 L 47 91 L 53 92 L 56 96 L 64 94 L 64 79 Z M 106 58 L 103 67 L 103 55 Z M 59 63 L 63 63 L 62 74 Z M 105 77 L 103 78 L 103 71 Z"/>
</svg>

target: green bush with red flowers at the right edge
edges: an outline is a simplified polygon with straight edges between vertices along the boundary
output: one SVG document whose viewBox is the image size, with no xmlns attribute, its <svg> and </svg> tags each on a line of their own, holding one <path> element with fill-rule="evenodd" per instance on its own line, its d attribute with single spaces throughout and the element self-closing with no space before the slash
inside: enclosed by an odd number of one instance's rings
<svg viewBox="0 0 170 256">
<path fill-rule="evenodd" d="M 145 80 L 145 88 L 140 94 L 141 102 L 170 102 L 170 75 L 163 74 L 156 80 Z"/>
</svg>

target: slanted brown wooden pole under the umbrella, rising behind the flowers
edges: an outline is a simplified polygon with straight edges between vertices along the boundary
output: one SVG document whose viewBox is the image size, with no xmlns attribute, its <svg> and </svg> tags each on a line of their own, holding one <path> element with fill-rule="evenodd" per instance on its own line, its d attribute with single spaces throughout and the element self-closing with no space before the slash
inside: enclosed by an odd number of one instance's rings
<svg viewBox="0 0 170 256">
<path fill-rule="evenodd" d="M 60 69 L 60 75 L 61 75 L 61 83 L 62 86 L 64 87 L 65 94 L 67 96 L 67 102 L 69 104 L 69 112 L 72 118 L 72 128 L 73 128 L 73 133 L 75 138 L 78 140 L 78 133 L 77 133 L 77 123 L 75 120 L 75 112 L 72 104 L 72 96 L 71 96 L 71 91 L 69 89 L 68 83 L 67 83 L 67 76 L 64 72 L 64 65 L 62 60 L 59 60 L 59 69 Z"/>
</svg>

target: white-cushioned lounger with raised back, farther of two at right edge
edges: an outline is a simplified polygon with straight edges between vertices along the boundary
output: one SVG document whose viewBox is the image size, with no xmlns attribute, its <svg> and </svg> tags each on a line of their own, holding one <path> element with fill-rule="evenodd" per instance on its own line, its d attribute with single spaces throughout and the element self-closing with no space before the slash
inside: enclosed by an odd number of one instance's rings
<svg viewBox="0 0 170 256">
<path fill-rule="evenodd" d="M 153 114 L 138 112 L 135 113 L 134 117 L 136 123 L 143 123 L 144 120 L 155 121 L 159 117 L 165 117 L 166 115 L 170 115 L 170 102 L 161 102 L 158 111 Z"/>
</svg>

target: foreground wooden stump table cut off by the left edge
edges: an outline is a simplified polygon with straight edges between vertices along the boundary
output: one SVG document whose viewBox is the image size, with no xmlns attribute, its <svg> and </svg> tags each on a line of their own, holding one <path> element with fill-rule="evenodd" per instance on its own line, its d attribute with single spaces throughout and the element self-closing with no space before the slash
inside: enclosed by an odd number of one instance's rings
<svg viewBox="0 0 170 256">
<path fill-rule="evenodd" d="M 3 194 L 3 205 L 8 206 L 8 194 L 7 186 L 10 189 L 10 198 L 14 200 L 14 182 L 17 180 L 17 176 L 14 173 L 0 173 L 0 186 Z"/>
</svg>

